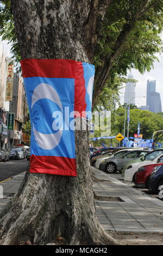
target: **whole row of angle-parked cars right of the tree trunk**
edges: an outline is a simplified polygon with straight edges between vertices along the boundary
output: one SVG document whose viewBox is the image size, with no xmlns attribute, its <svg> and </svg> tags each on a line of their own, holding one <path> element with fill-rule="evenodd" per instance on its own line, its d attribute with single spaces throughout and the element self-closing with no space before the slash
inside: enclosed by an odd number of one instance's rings
<svg viewBox="0 0 163 256">
<path fill-rule="evenodd" d="M 147 188 L 163 198 L 163 149 L 118 148 L 91 157 L 91 165 L 106 173 L 122 173 L 135 187 Z"/>
</svg>

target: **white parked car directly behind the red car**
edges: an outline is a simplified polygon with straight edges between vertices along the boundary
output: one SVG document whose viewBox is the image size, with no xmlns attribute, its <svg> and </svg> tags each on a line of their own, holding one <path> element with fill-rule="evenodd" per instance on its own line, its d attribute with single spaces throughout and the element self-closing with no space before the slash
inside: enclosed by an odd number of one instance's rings
<svg viewBox="0 0 163 256">
<path fill-rule="evenodd" d="M 124 171 L 124 180 L 134 182 L 135 173 L 137 170 L 147 164 L 159 163 L 160 157 L 163 156 L 163 150 L 154 150 L 148 153 L 146 156 L 141 157 L 140 162 L 128 164 L 126 170 Z"/>
</svg>

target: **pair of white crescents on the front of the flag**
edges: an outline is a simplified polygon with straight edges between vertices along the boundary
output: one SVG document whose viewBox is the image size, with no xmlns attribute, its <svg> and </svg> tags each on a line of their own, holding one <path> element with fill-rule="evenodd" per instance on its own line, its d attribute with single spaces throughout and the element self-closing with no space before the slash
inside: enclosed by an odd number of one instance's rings
<svg viewBox="0 0 163 256">
<path fill-rule="evenodd" d="M 63 112 L 60 97 L 59 97 L 58 93 L 56 92 L 56 90 L 52 86 L 49 86 L 49 84 L 40 83 L 34 89 L 34 92 L 32 95 L 31 108 L 33 108 L 34 103 L 37 100 L 41 100 L 41 99 L 52 100 L 54 103 L 56 103 L 60 107 L 61 111 Z M 36 129 L 33 125 L 33 133 L 34 133 L 35 141 L 37 142 L 39 147 L 42 149 L 50 150 L 50 149 L 57 147 L 57 145 L 60 143 L 60 139 L 62 136 L 62 130 L 63 130 L 63 126 L 56 133 L 45 134 L 45 133 L 36 131 Z"/>
</svg>

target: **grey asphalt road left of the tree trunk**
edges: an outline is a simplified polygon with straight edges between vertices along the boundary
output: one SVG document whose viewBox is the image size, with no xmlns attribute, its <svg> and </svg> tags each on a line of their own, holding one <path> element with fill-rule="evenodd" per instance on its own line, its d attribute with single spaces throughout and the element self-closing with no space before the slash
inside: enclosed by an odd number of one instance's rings
<svg viewBox="0 0 163 256">
<path fill-rule="evenodd" d="M 27 159 L 0 162 L 0 182 L 26 171 L 27 166 Z"/>
</svg>

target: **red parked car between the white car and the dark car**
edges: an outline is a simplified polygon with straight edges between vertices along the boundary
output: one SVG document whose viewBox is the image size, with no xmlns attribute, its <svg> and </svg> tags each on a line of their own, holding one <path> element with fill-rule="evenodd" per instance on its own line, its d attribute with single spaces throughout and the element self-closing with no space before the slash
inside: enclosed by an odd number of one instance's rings
<svg viewBox="0 0 163 256">
<path fill-rule="evenodd" d="M 163 163 L 153 163 L 140 167 L 135 173 L 135 187 L 149 188 L 149 177 L 153 170 L 159 168 Z"/>
</svg>

